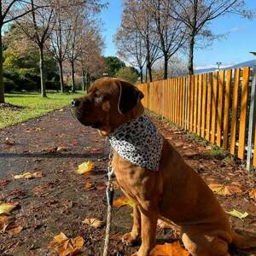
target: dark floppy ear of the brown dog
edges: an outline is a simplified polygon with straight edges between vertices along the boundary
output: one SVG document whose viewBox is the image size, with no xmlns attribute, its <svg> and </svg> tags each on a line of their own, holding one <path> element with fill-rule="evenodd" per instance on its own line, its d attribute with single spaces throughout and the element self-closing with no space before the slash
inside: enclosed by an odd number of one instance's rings
<svg viewBox="0 0 256 256">
<path fill-rule="evenodd" d="M 119 113 L 127 113 L 137 105 L 137 102 L 143 99 L 143 93 L 136 86 L 128 82 L 119 81 Z"/>
</svg>

